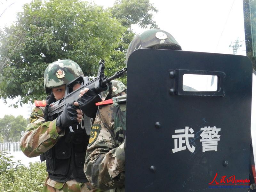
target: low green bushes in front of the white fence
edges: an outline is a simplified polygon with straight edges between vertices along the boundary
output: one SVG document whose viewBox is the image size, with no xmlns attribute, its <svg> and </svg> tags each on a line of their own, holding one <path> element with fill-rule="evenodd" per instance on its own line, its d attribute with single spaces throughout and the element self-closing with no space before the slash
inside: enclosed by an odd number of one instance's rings
<svg viewBox="0 0 256 192">
<path fill-rule="evenodd" d="M 45 162 L 30 163 L 29 167 L 13 162 L 8 153 L 0 152 L 0 191 L 41 192 L 47 177 Z M 4 162 L 4 164 L 2 164 Z"/>
</svg>

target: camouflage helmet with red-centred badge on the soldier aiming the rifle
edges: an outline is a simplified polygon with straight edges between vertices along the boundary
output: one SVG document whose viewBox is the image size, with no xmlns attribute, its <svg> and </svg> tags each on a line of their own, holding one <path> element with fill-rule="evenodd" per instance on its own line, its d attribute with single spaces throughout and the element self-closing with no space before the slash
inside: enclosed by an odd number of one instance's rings
<svg viewBox="0 0 256 192">
<path fill-rule="evenodd" d="M 84 76 L 79 65 L 72 60 L 58 60 L 44 71 L 44 90 L 49 93 L 53 87 L 65 85 L 76 77 Z"/>
</svg>

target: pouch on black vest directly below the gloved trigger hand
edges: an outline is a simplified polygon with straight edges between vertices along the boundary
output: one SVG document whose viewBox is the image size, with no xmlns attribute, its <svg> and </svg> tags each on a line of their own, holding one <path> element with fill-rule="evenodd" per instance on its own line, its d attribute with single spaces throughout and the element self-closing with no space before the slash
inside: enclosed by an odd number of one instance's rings
<svg viewBox="0 0 256 192">
<path fill-rule="evenodd" d="M 61 138 L 54 146 L 54 174 L 66 176 L 69 170 L 71 147 L 70 143 L 65 142 L 65 138 Z"/>
</svg>

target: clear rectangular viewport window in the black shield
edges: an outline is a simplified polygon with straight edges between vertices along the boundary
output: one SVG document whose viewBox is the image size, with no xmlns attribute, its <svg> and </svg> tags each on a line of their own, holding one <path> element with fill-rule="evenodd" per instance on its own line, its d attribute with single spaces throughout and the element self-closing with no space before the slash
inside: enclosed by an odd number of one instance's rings
<svg viewBox="0 0 256 192">
<path fill-rule="evenodd" d="M 183 91 L 217 91 L 218 76 L 213 75 L 183 75 Z"/>
</svg>

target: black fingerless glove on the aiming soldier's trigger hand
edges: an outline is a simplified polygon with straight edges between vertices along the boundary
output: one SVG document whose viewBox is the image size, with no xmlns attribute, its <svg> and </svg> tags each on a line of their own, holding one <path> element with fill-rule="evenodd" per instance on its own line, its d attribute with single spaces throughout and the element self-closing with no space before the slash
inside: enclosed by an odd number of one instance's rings
<svg viewBox="0 0 256 192">
<path fill-rule="evenodd" d="M 73 105 L 73 103 L 68 103 L 60 116 L 58 116 L 56 121 L 56 126 L 60 127 L 60 129 L 63 129 L 65 127 L 69 127 L 70 125 L 77 124 L 76 119 L 76 109 L 77 107 Z"/>
</svg>

